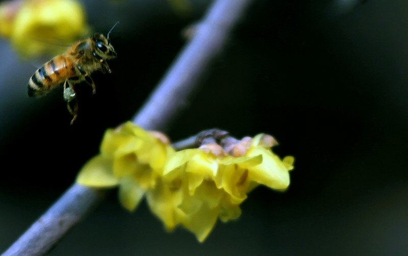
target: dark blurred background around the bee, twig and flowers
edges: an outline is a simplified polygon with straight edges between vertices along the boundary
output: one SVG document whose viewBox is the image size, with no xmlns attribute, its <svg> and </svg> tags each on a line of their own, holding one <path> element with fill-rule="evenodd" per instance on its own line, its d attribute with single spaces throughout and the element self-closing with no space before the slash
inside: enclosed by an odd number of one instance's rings
<svg viewBox="0 0 408 256">
<path fill-rule="evenodd" d="M 0 251 L 72 184 L 105 129 L 133 117 L 210 1 L 187 11 L 82 3 L 94 31 L 120 21 L 118 57 L 111 74 L 92 75 L 95 95 L 83 88 L 74 125 L 62 88 L 27 96 L 42 63 L 0 40 Z M 272 134 L 275 152 L 296 158 L 289 190 L 254 190 L 240 219 L 217 223 L 203 244 L 166 233 L 145 203 L 126 212 L 114 191 L 49 255 L 407 255 L 407 10 L 404 0 L 253 1 L 168 135 Z"/>
</svg>

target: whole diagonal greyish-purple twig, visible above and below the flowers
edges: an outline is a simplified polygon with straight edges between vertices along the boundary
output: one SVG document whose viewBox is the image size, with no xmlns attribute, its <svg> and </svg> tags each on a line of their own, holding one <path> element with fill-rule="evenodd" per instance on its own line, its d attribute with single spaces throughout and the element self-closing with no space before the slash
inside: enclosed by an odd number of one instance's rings
<svg viewBox="0 0 408 256">
<path fill-rule="evenodd" d="M 134 118 L 146 130 L 168 128 L 197 81 L 220 53 L 250 0 L 217 0 L 193 39 Z M 107 190 L 105 190 L 106 192 Z M 2 256 L 43 255 L 104 198 L 104 190 L 73 184 Z"/>
</svg>

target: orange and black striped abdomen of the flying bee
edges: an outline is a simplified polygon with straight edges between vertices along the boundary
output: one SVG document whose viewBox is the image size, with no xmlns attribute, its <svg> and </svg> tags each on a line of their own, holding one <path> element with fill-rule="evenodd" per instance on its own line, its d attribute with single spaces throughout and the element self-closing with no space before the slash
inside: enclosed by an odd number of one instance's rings
<svg viewBox="0 0 408 256">
<path fill-rule="evenodd" d="M 77 71 L 72 60 L 64 55 L 58 55 L 37 69 L 31 76 L 28 94 L 30 97 L 40 97 L 75 75 Z"/>
</svg>

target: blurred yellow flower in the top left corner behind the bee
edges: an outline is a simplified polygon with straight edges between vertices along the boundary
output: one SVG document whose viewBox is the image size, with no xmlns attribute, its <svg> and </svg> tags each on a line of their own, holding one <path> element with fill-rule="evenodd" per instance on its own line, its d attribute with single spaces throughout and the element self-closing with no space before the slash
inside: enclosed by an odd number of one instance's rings
<svg viewBox="0 0 408 256">
<path fill-rule="evenodd" d="M 76 0 L 14 0 L 0 6 L 0 35 L 22 56 L 56 54 L 88 33 L 83 6 Z"/>
</svg>

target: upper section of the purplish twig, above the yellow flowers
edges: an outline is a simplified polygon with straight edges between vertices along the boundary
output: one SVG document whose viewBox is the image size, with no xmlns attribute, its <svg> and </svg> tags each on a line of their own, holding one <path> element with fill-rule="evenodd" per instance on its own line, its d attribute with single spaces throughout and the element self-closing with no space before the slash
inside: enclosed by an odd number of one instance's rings
<svg viewBox="0 0 408 256">
<path fill-rule="evenodd" d="M 133 122 L 146 130 L 168 129 L 176 114 L 187 105 L 188 95 L 221 52 L 234 24 L 250 0 L 218 0 L 199 25 L 194 37 L 167 71 Z"/>
</svg>

